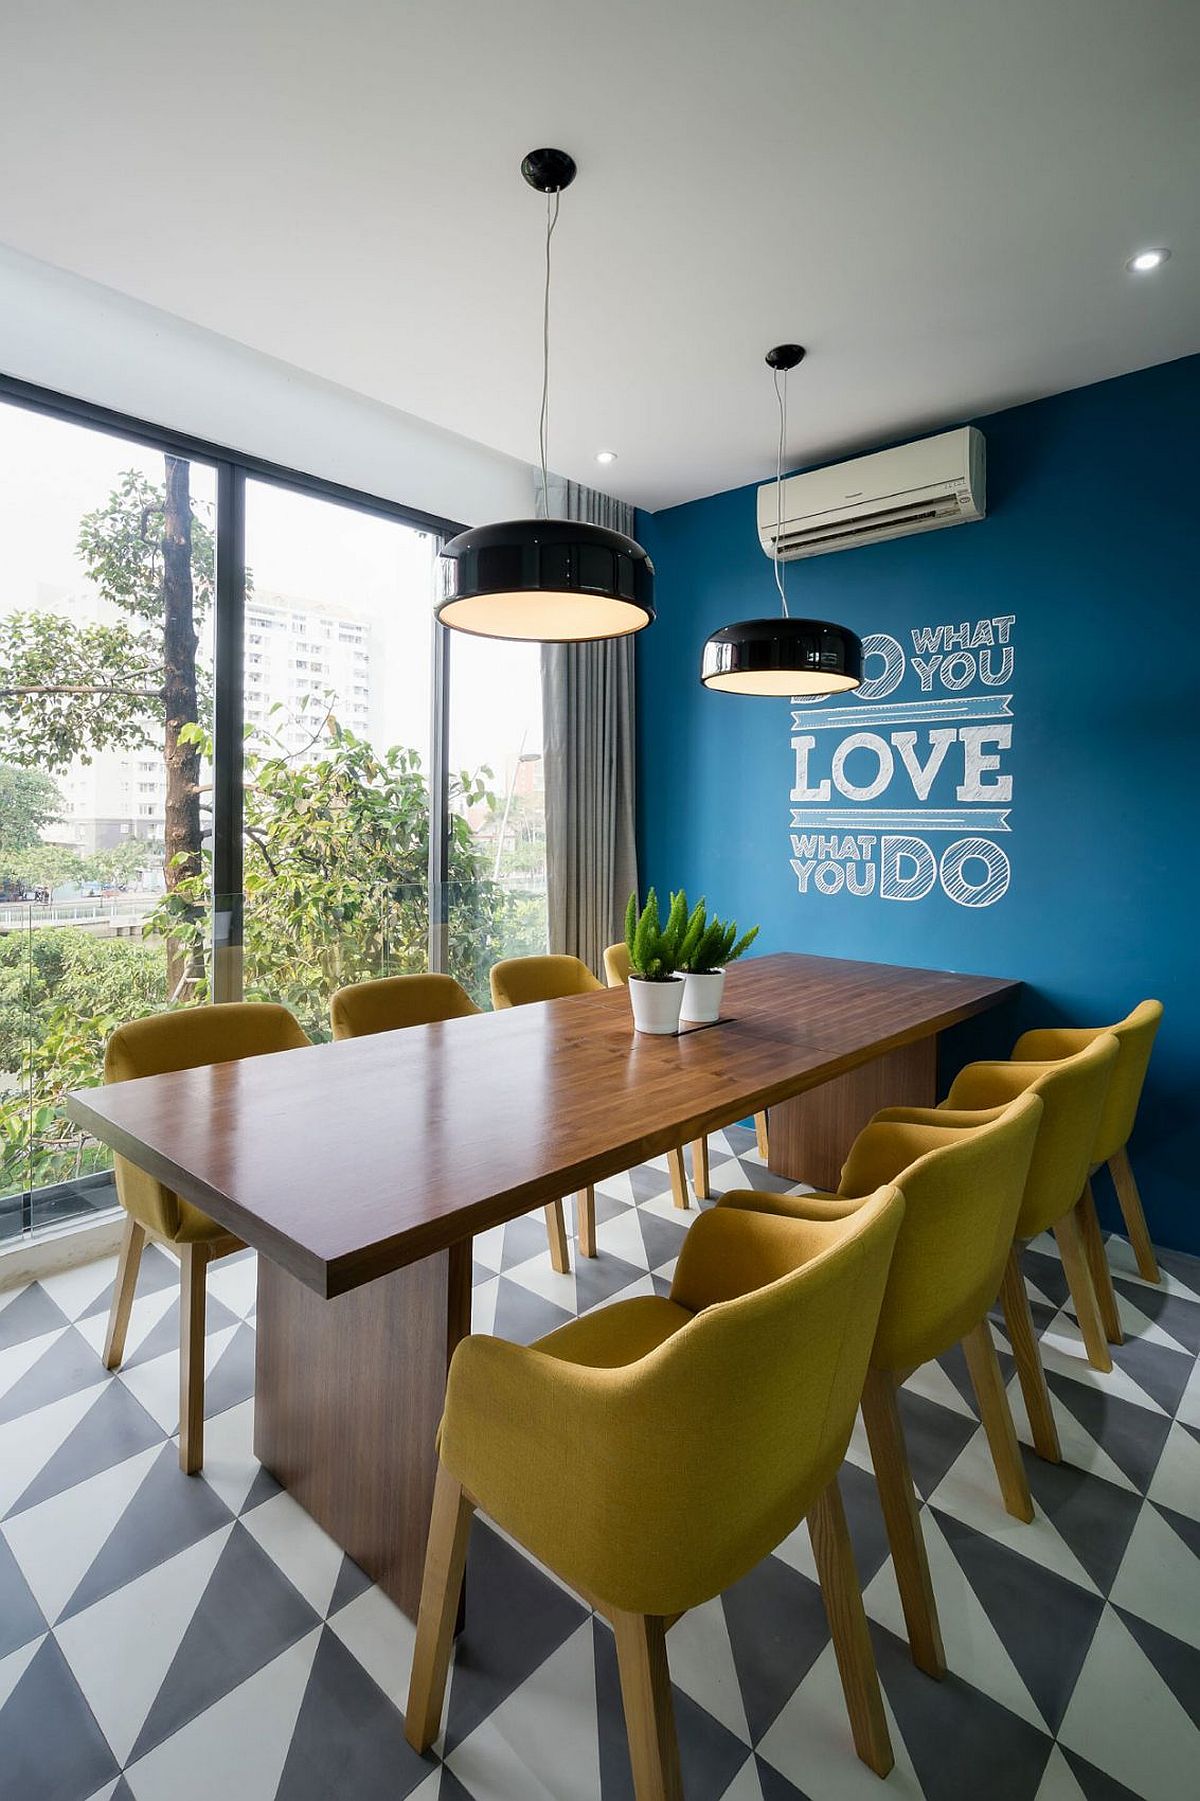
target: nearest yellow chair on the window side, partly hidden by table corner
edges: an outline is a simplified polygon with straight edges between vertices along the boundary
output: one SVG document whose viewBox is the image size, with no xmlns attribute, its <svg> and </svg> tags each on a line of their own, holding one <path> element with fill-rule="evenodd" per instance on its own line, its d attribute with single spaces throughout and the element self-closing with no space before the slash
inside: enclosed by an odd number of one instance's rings
<svg viewBox="0 0 1200 1801">
<path fill-rule="evenodd" d="M 211 1063 L 238 1063 L 274 1050 L 299 1050 L 308 1037 L 286 1007 L 267 1001 L 229 1001 L 218 1007 L 182 1007 L 117 1027 L 105 1050 L 105 1081 L 198 1070 Z M 133 1290 L 142 1248 L 151 1237 L 178 1257 L 178 1462 L 195 1475 L 204 1462 L 204 1313 L 207 1268 L 218 1257 L 243 1250 L 240 1239 L 182 1199 L 144 1169 L 115 1158 L 117 1194 L 126 1212 L 117 1281 L 108 1309 L 105 1369 L 119 1369 L 130 1329 Z"/>
</svg>

